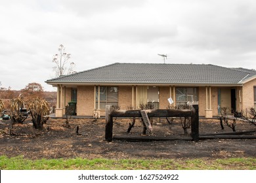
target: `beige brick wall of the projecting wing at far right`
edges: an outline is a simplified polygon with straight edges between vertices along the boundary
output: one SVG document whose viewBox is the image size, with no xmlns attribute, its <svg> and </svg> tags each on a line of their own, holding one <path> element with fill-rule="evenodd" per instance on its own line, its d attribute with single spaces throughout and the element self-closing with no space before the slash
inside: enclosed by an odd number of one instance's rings
<svg viewBox="0 0 256 183">
<path fill-rule="evenodd" d="M 256 86 L 256 79 L 244 84 L 242 89 L 242 109 L 254 107 L 253 86 Z"/>
</svg>

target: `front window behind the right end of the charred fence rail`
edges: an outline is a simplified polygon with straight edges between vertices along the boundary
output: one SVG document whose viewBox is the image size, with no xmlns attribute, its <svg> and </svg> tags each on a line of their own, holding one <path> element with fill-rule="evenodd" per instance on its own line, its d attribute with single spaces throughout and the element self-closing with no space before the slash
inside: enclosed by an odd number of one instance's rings
<svg viewBox="0 0 256 183">
<path fill-rule="evenodd" d="M 198 88 L 176 88 L 177 105 L 198 102 Z"/>
</svg>

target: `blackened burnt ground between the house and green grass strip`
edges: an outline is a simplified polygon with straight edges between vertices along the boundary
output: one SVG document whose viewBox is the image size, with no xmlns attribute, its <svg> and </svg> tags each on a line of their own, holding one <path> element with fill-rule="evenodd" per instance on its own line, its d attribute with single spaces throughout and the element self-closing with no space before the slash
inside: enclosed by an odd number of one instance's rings
<svg viewBox="0 0 256 183">
<path fill-rule="evenodd" d="M 256 139 L 205 139 L 199 142 L 105 141 L 105 120 L 72 119 L 70 127 L 65 120 L 50 118 L 42 131 L 33 129 L 30 120 L 24 124 L 11 125 L 0 121 L 0 156 L 24 156 L 28 159 L 51 158 L 107 158 L 107 159 L 173 159 L 173 158 L 256 158 Z M 114 135 L 141 137 L 142 123 L 138 119 L 131 133 L 127 128 L 131 119 L 114 120 Z M 79 134 L 76 128 L 79 126 Z M 255 125 L 237 122 L 236 131 L 256 130 Z M 11 134 L 10 134 L 11 132 Z M 219 125 L 219 120 L 200 120 L 200 134 L 232 132 L 230 127 Z M 188 129 L 190 133 L 190 129 Z M 167 120 L 154 119 L 153 133 L 156 137 L 185 137 L 180 120 L 169 125 Z M 253 137 L 255 137 L 255 133 Z"/>
</svg>

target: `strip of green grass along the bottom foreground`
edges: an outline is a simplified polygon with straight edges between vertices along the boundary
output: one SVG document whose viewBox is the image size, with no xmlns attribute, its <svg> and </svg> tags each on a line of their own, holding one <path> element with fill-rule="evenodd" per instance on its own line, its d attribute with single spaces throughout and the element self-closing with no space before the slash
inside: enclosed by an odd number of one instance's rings
<svg viewBox="0 0 256 183">
<path fill-rule="evenodd" d="M 256 170 L 256 158 L 24 159 L 0 156 L 1 170 Z"/>
</svg>

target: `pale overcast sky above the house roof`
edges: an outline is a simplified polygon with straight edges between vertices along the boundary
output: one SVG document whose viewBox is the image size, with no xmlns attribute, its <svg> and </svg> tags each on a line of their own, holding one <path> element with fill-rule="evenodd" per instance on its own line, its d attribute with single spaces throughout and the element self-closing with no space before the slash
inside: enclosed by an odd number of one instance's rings
<svg viewBox="0 0 256 183">
<path fill-rule="evenodd" d="M 1 87 L 53 91 L 63 44 L 75 71 L 111 63 L 256 69 L 255 0 L 1 0 Z"/>
</svg>

